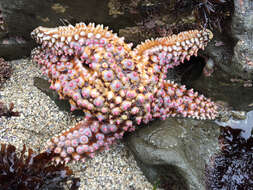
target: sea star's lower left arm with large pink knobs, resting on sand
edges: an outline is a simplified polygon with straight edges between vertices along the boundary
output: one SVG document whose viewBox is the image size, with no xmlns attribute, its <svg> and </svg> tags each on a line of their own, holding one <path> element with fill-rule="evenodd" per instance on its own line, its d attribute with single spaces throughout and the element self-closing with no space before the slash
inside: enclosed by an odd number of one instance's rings
<svg viewBox="0 0 253 190">
<path fill-rule="evenodd" d="M 108 149 L 116 139 L 123 137 L 126 130 L 129 130 L 126 122 L 116 126 L 96 118 L 85 119 L 49 140 L 47 149 L 57 154 L 54 158 L 57 162 L 85 161 L 93 158 L 96 151 Z"/>
</svg>

